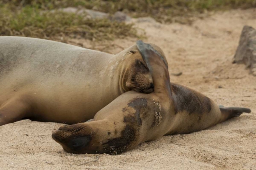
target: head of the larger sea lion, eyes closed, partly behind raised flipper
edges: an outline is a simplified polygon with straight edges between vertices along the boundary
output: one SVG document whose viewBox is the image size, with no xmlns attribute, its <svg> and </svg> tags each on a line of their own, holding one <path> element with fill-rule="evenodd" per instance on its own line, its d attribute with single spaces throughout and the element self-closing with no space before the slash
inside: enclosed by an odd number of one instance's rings
<svg viewBox="0 0 256 170">
<path fill-rule="evenodd" d="M 165 54 L 158 46 L 154 44 L 150 45 L 165 58 Z M 123 73 L 124 75 L 126 75 L 124 76 L 126 82 L 123 84 L 125 84 L 125 86 L 130 90 L 146 94 L 153 92 L 154 82 L 152 79 L 152 75 L 150 73 L 150 70 L 148 69 L 147 64 L 143 60 L 137 46 L 131 46 L 130 48 L 120 52 L 118 55 L 123 56 L 124 62 L 126 62 L 126 70 Z"/>
</svg>

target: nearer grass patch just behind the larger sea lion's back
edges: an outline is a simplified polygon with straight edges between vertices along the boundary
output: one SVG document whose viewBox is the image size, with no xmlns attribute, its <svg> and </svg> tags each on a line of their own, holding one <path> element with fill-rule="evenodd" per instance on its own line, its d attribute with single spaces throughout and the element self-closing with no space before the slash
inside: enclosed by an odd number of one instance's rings
<svg viewBox="0 0 256 170">
<path fill-rule="evenodd" d="M 88 19 L 86 14 L 61 11 L 42 12 L 40 6 L 0 4 L 0 35 L 54 39 L 56 36 L 82 37 L 90 40 L 111 40 L 126 36 L 138 37 L 132 24 L 108 19 Z"/>
</svg>

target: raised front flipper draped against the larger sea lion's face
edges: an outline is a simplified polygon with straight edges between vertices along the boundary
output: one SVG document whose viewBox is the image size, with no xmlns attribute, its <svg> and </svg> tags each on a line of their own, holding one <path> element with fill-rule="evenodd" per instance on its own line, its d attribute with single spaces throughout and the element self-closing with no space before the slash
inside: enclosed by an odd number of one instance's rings
<svg viewBox="0 0 256 170">
<path fill-rule="evenodd" d="M 165 58 L 150 44 L 143 43 L 141 40 L 137 41 L 136 44 L 152 75 L 155 93 L 171 95 L 168 64 Z M 166 90 L 168 92 L 163 93 Z"/>
</svg>

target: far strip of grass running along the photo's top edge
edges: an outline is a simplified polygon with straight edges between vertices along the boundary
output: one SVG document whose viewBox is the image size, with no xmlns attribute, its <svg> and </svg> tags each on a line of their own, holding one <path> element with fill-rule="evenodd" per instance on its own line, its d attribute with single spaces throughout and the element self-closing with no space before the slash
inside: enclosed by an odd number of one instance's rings
<svg viewBox="0 0 256 170">
<path fill-rule="evenodd" d="M 6 0 L 7 1 L 7 0 Z M 229 10 L 256 7 L 256 0 L 11 0 L 15 5 L 32 5 L 46 9 L 85 7 L 105 13 L 123 11 L 132 17 L 152 16 L 171 22 L 172 17 L 203 13 L 205 10 Z"/>
</svg>

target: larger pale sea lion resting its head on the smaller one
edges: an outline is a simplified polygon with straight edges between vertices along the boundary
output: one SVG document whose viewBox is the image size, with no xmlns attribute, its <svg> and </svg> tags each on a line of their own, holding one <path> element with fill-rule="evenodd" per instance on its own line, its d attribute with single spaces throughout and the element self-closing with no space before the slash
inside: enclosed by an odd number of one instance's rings
<svg viewBox="0 0 256 170">
<path fill-rule="evenodd" d="M 136 45 L 112 55 L 50 40 L 0 37 L 0 125 L 24 118 L 85 122 L 130 90 L 154 90 Z"/>
</svg>

